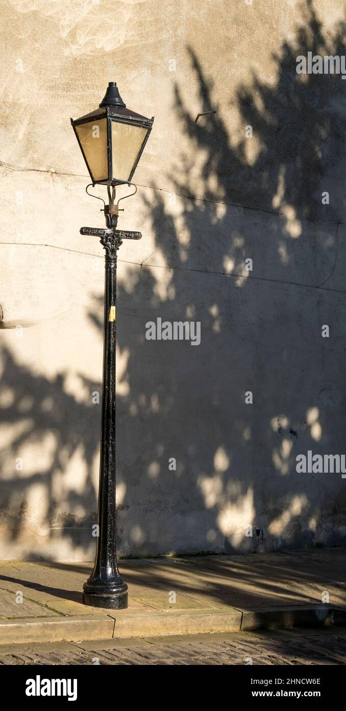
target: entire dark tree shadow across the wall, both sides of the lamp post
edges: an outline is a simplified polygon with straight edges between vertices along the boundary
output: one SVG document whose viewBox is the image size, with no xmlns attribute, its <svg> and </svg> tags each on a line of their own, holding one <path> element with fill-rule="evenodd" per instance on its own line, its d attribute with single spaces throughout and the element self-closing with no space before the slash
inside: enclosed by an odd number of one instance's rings
<svg viewBox="0 0 346 711">
<path fill-rule="evenodd" d="M 340 76 L 298 76 L 296 56 L 342 54 L 345 36 L 340 22 L 327 37 L 309 2 L 296 38 L 274 58 L 274 85 L 253 73 L 250 86 L 238 87 L 243 127 L 238 140 L 215 107 L 213 82 L 190 50 L 199 111 L 217 112 L 195 124 L 196 114 L 176 86 L 177 119 L 190 149 L 177 159 L 172 192 L 157 187 L 143 198 L 154 254 L 143 267 L 127 265 L 125 279 L 119 255 L 117 338 L 125 367 L 118 383 L 117 477 L 123 555 L 345 542 L 340 475 L 329 475 L 327 483 L 318 479 L 323 475 L 303 476 L 295 469 L 296 454 L 308 449 L 343 451 L 346 385 L 340 369 L 345 328 L 335 322 L 345 296 L 333 282 L 341 258 L 337 223 L 344 203 L 335 173 L 341 175 L 345 157 L 345 87 Z M 249 126 L 252 139 L 245 137 Z M 203 180 L 197 199 L 198 174 Z M 321 201 L 323 191 L 330 194 L 328 205 Z M 245 268 L 247 258 L 252 271 Z M 145 324 L 157 317 L 201 321 L 201 344 L 147 341 Z M 101 300 L 90 318 L 101 333 Z M 320 337 L 321 324 L 334 325 L 333 339 Z M 86 385 L 90 392 L 101 387 Z M 81 403 L 67 395 L 62 377 L 38 378 L 10 353 L 1 387 L 13 393 L 13 403 L 1 410 L 3 424 L 30 420 L 4 448 L 5 464 L 20 456 L 24 444 L 40 443 L 50 433 L 55 437 L 43 471 L 6 474 L 2 510 L 11 518 L 11 537 L 21 533 L 28 518 L 22 502 L 38 482 L 45 490 L 48 525 L 59 523 L 55 479 L 82 448 L 84 488 L 65 486 L 67 519 L 60 535 L 72 546 L 78 536 L 86 555 L 93 549 L 91 469 L 99 447 L 99 412 L 90 398 Z M 252 405 L 245 402 L 250 391 Z M 28 396 L 23 414 L 20 403 Z M 43 409 L 47 398 L 54 402 L 50 410 Z M 172 459 L 175 469 L 169 468 Z M 84 512 L 78 525 L 76 510 Z M 245 535 L 250 525 L 252 536 Z"/>
</svg>

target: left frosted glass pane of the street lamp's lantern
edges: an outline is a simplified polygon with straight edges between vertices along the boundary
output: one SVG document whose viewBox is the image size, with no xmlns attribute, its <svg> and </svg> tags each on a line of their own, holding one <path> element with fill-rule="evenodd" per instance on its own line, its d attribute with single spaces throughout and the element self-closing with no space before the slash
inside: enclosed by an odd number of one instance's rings
<svg viewBox="0 0 346 711">
<path fill-rule="evenodd" d="M 75 129 L 94 182 L 108 180 L 106 118 L 79 124 Z"/>
</svg>

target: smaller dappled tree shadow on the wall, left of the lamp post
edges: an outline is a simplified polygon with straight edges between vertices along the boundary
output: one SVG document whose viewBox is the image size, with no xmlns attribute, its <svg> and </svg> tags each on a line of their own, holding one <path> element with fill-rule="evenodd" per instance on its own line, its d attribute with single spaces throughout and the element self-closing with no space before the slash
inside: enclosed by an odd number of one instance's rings
<svg viewBox="0 0 346 711">
<path fill-rule="evenodd" d="M 1 528 L 9 545 L 23 534 L 33 557 L 45 557 L 47 541 L 67 538 L 81 555 L 94 550 L 97 500 L 92 469 L 99 447 L 99 412 L 65 390 L 65 374 L 48 380 L 1 349 L 1 428 L 9 437 L 0 451 Z M 100 390 L 89 383 L 88 390 Z M 69 467 L 84 461 L 79 481 Z M 85 515 L 81 512 L 85 512 Z M 26 545 L 22 538 L 22 545 Z"/>
</svg>

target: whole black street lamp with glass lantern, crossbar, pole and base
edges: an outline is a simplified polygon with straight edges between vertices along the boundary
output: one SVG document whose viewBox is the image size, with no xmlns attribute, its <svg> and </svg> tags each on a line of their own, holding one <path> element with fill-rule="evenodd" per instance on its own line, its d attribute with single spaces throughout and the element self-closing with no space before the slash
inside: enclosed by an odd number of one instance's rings
<svg viewBox="0 0 346 711">
<path fill-rule="evenodd" d="M 108 609 L 128 606 L 128 586 L 116 560 L 116 259 L 124 239 L 139 240 L 142 236 L 140 232 L 116 229 L 118 204 L 114 203 L 116 186 L 132 184 L 153 121 L 126 108 L 115 82 L 109 83 L 99 109 L 71 119 L 92 185 L 106 185 L 108 191 L 108 205 L 103 210 L 106 229 L 80 230 L 82 235 L 99 237 L 106 252 L 99 535 L 94 570 L 83 586 L 83 602 Z"/>
</svg>

